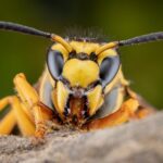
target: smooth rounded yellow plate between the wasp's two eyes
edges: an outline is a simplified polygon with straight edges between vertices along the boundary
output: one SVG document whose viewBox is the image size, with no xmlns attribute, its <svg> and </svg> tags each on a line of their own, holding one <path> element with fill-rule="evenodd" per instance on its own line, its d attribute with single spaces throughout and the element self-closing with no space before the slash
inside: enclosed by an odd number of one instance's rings
<svg viewBox="0 0 163 163">
<path fill-rule="evenodd" d="M 68 79 L 72 87 L 86 88 L 89 84 L 99 79 L 99 66 L 89 60 L 72 59 L 64 64 L 62 75 Z"/>
</svg>

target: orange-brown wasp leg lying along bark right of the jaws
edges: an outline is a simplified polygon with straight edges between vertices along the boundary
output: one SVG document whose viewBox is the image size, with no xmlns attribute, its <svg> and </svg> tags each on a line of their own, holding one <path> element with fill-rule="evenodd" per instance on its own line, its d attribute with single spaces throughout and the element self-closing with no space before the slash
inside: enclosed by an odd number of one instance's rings
<svg viewBox="0 0 163 163">
<path fill-rule="evenodd" d="M 103 118 L 88 122 L 85 127 L 87 129 L 93 130 L 120 125 L 122 123 L 127 122 L 130 118 L 130 116 L 133 116 L 133 114 L 137 111 L 138 106 L 138 101 L 136 99 L 130 98 L 127 101 L 125 101 L 122 104 L 121 109 L 115 113 L 112 113 Z"/>
</svg>

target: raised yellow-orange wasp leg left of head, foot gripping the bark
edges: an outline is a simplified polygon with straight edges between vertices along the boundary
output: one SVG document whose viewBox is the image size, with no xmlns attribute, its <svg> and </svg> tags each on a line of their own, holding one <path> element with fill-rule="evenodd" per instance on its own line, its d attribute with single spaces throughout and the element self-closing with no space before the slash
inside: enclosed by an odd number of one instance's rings
<svg viewBox="0 0 163 163">
<path fill-rule="evenodd" d="M 40 106 L 39 96 L 35 88 L 33 88 L 24 74 L 17 74 L 14 78 L 15 89 L 26 108 L 30 109 L 36 124 L 36 137 L 43 137 L 47 131 L 46 122 L 52 118 L 52 111 Z"/>
</svg>

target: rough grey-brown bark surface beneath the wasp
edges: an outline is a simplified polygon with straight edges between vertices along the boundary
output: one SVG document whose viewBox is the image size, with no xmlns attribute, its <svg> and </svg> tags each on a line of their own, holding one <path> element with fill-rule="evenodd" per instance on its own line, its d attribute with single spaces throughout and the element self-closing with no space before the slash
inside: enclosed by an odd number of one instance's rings
<svg viewBox="0 0 163 163">
<path fill-rule="evenodd" d="M 32 139 L 0 137 L 0 162 L 4 163 L 156 163 L 163 162 L 163 112 L 110 129 L 82 134 L 62 129 L 43 145 Z"/>
</svg>

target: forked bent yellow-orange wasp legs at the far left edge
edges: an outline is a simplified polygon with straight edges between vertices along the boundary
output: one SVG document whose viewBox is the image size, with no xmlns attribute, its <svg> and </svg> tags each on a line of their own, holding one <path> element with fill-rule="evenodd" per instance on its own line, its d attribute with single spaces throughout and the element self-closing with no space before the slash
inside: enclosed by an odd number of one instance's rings
<svg viewBox="0 0 163 163">
<path fill-rule="evenodd" d="M 0 100 L 0 110 L 4 109 L 8 104 L 11 105 L 10 112 L 0 122 L 0 134 L 11 134 L 13 127 L 17 124 L 18 128 L 24 136 L 30 136 L 35 133 L 35 124 L 29 120 L 28 115 L 24 112 L 21 101 L 17 97 L 7 97 Z"/>
</svg>

